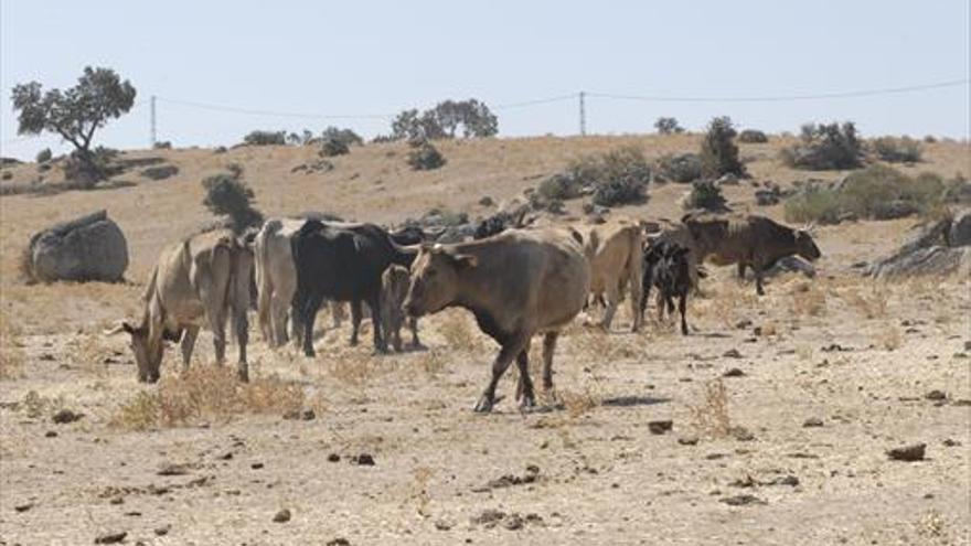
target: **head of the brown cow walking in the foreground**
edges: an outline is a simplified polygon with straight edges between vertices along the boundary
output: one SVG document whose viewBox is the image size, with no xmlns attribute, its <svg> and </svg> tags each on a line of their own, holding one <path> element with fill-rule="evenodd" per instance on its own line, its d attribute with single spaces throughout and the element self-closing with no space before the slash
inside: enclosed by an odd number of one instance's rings
<svg viewBox="0 0 971 546">
<path fill-rule="evenodd" d="M 441 245 L 423 245 L 412 265 L 405 312 L 422 317 L 445 309 L 456 300 L 461 272 L 477 265 L 474 256 L 456 254 Z"/>
</svg>

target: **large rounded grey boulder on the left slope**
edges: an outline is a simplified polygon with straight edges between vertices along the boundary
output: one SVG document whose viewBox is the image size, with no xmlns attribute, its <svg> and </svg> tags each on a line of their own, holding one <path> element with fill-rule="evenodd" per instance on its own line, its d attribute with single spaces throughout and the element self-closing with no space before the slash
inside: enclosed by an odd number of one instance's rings
<svg viewBox="0 0 971 546">
<path fill-rule="evenodd" d="M 98 211 L 34 234 L 26 261 L 38 281 L 118 282 L 128 268 L 128 243 L 107 212 Z"/>
</svg>

